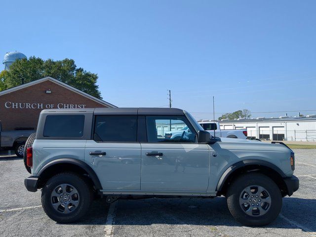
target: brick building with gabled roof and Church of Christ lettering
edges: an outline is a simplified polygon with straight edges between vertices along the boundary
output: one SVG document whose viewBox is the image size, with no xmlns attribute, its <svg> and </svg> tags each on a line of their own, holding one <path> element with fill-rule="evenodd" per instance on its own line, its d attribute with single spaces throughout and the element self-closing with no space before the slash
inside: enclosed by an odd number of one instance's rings
<svg viewBox="0 0 316 237">
<path fill-rule="evenodd" d="M 37 127 L 43 109 L 116 107 L 57 79 L 46 77 L 0 91 L 3 130 Z"/>
</svg>

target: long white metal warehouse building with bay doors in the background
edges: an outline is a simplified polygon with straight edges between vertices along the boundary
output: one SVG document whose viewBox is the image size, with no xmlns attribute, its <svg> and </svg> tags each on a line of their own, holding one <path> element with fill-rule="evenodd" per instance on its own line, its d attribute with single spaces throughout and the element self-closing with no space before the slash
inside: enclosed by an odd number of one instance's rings
<svg viewBox="0 0 316 237">
<path fill-rule="evenodd" d="M 221 129 L 246 128 L 248 138 L 274 141 L 316 141 L 316 115 L 279 118 L 238 118 L 219 121 Z"/>
</svg>

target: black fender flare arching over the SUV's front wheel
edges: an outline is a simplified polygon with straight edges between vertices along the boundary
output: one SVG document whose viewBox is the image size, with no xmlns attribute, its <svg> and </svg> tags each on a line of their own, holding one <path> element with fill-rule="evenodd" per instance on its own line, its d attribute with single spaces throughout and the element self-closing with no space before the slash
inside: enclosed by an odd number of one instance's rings
<svg viewBox="0 0 316 237">
<path fill-rule="evenodd" d="M 271 162 L 261 160 L 261 159 L 245 159 L 245 160 L 238 161 L 237 163 L 231 165 L 230 167 L 226 169 L 226 171 L 222 174 L 220 180 L 218 181 L 216 191 L 222 190 L 226 180 L 234 171 L 236 171 L 237 169 L 241 167 L 246 167 L 248 165 L 259 165 L 259 166 L 268 167 L 275 170 L 282 178 L 286 177 L 284 172 Z"/>
</svg>

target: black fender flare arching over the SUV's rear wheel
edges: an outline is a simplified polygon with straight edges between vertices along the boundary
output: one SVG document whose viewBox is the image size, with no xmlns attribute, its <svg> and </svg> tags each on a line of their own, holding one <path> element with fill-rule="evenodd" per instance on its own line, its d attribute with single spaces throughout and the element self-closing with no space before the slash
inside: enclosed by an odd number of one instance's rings
<svg viewBox="0 0 316 237">
<path fill-rule="evenodd" d="M 101 190 L 102 186 L 100 183 L 100 180 L 98 178 L 98 176 L 96 175 L 96 173 L 94 172 L 94 170 L 85 162 L 83 162 L 82 160 L 79 159 L 75 159 L 75 158 L 60 158 L 60 159 L 55 159 L 52 160 L 50 162 L 48 162 L 47 164 L 45 164 L 39 171 L 38 173 L 38 177 L 40 177 L 41 174 L 44 173 L 44 171 L 56 164 L 62 164 L 62 163 L 67 163 L 67 164 L 74 164 L 79 166 L 80 168 L 82 168 L 85 172 L 87 172 L 87 174 L 90 176 L 90 178 L 92 179 L 92 182 L 95 185 L 95 188 L 97 190 Z"/>
</svg>

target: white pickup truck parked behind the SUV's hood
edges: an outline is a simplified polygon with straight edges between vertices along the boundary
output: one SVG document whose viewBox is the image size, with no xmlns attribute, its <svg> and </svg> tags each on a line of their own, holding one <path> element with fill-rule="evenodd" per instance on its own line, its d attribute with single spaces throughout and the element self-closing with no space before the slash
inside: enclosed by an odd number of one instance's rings
<svg viewBox="0 0 316 237">
<path fill-rule="evenodd" d="M 205 131 L 208 131 L 212 136 L 216 137 L 229 137 L 229 138 L 240 138 L 246 139 L 247 138 L 247 129 L 224 129 L 221 130 L 219 126 L 219 122 L 214 121 L 205 121 L 198 123 L 204 128 Z"/>
</svg>

